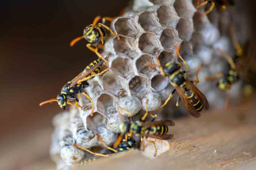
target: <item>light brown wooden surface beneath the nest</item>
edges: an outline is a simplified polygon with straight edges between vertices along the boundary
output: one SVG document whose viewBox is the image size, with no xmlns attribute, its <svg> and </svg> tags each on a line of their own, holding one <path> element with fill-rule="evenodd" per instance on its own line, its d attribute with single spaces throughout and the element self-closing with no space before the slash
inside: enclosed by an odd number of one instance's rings
<svg viewBox="0 0 256 170">
<path fill-rule="evenodd" d="M 256 169 L 255 100 L 241 107 L 203 113 L 176 120 L 170 127 L 170 149 L 155 159 L 140 150 L 98 158 L 74 170 L 84 169 Z"/>
</svg>

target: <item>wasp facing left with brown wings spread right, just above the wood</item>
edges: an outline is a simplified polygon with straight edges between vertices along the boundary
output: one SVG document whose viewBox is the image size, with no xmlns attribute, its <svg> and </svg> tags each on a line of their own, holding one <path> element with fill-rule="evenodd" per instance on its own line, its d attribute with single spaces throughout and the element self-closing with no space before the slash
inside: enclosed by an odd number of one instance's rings
<svg viewBox="0 0 256 170">
<path fill-rule="evenodd" d="M 126 112 L 128 115 L 132 116 L 131 113 L 127 112 L 123 108 L 121 107 L 118 107 L 118 108 Z M 121 148 L 121 150 L 123 150 L 123 148 L 120 147 L 121 141 L 126 142 L 128 139 L 132 138 L 132 135 L 141 136 L 141 142 L 142 142 L 143 148 L 145 148 L 143 137 L 146 137 L 146 141 L 154 145 L 155 147 L 154 156 L 156 156 L 157 148 L 156 148 L 155 141 L 147 140 L 147 137 L 160 139 L 160 140 L 171 139 L 174 135 L 167 134 L 167 132 L 169 131 L 168 126 L 174 126 L 175 123 L 171 120 L 154 121 L 157 118 L 157 116 L 153 116 L 153 115 L 151 115 L 152 117 L 154 117 L 151 120 L 151 122 L 145 122 L 147 115 L 148 115 L 148 100 L 146 101 L 146 113 L 141 117 L 141 120 L 137 120 L 135 122 L 133 120 L 131 122 L 124 121 L 119 125 L 119 129 L 121 133 L 117 138 L 116 142 L 114 143 L 113 148 L 119 147 L 119 149 Z"/>
</svg>

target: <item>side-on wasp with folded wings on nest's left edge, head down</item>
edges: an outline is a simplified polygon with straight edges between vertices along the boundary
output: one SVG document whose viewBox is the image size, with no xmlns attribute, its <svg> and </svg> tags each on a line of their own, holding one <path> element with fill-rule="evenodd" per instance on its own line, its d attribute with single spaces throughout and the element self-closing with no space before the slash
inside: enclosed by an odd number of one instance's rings
<svg viewBox="0 0 256 170">
<path fill-rule="evenodd" d="M 108 70 L 107 68 L 102 72 L 100 72 L 100 68 L 102 67 L 103 62 L 104 61 L 100 59 L 94 60 L 92 63 L 86 66 L 86 68 L 80 74 L 78 74 L 71 81 L 67 82 L 62 87 L 60 94 L 58 94 L 56 98 L 41 102 L 39 105 L 42 106 L 46 103 L 52 103 L 54 101 L 57 101 L 59 106 L 64 110 L 66 109 L 67 104 L 75 105 L 82 109 L 82 107 L 78 104 L 79 99 L 77 97 L 78 94 L 82 94 L 91 101 L 91 104 L 92 104 L 91 115 L 93 115 L 94 104 L 93 104 L 92 98 L 82 89 L 87 88 L 89 86 L 89 83 L 87 82 L 87 80 L 95 76 L 101 75 Z M 75 103 L 68 101 L 69 99 L 75 99 Z"/>
</svg>

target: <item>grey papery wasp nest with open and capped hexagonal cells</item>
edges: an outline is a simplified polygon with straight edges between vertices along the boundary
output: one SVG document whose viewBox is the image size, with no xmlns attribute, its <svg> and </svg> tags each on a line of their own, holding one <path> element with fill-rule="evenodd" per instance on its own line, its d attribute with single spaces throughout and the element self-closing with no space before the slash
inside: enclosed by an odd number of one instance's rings
<svg viewBox="0 0 256 170">
<path fill-rule="evenodd" d="M 90 154 L 72 146 L 73 139 L 85 148 L 101 146 L 95 135 L 99 133 L 107 145 L 114 143 L 121 122 L 118 113 L 128 116 L 118 110 L 118 106 L 135 115 L 141 109 L 145 111 L 146 100 L 149 100 L 148 110 L 152 111 L 167 99 L 173 90 L 168 78 L 160 75 L 159 68 L 146 63 L 157 64 L 156 57 L 162 65 L 172 60 L 181 62 L 174 48 L 179 44 L 182 44 L 180 53 L 190 67 L 189 78 L 194 79 L 198 67 L 204 66 L 197 86 L 208 98 L 210 107 L 223 107 L 225 93 L 217 89 L 215 82 L 204 78 L 227 67 L 217 48 L 231 56 L 235 52 L 228 31 L 230 16 L 227 11 L 214 8 L 209 19 L 203 12 L 197 12 L 195 5 L 196 1 L 192 0 L 134 0 L 133 6 L 111 23 L 111 29 L 120 36 L 120 40 L 108 39 L 102 52 L 111 69 L 89 80 L 90 86 L 85 89 L 93 98 L 94 111 L 98 114 L 89 116 L 91 103 L 81 96 L 79 104 L 83 111 L 72 108 L 54 118 L 51 155 L 58 167 L 90 158 Z M 231 98 L 238 95 L 240 84 L 233 86 Z M 160 119 L 171 118 L 177 112 L 187 114 L 182 104 L 176 108 L 176 100 L 174 96 L 165 109 L 158 112 Z M 167 114 L 160 113 L 163 110 Z"/>
</svg>

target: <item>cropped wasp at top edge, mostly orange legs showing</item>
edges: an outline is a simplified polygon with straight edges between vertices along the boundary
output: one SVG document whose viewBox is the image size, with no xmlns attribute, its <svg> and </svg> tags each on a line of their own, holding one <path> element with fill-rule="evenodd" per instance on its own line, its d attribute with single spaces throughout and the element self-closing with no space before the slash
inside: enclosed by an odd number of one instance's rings
<svg viewBox="0 0 256 170">
<path fill-rule="evenodd" d="M 200 8 L 201 6 L 204 6 L 208 3 L 211 4 L 211 6 L 207 11 L 205 11 L 206 15 L 209 14 L 213 10 L 215 4 L 220 6 L 220 8 L 222 10 L 225 10 L 227 8 L 227 5 L 234 5 L 235 4 L 233 0 L 212 0 L 212 1 L 204 0 L 204 2 L 202 2 L 202 3 L 201 3 L 201 0 L 197 0 L 196 9 L 198 10 L 198 8 Z"/>
</svg>

